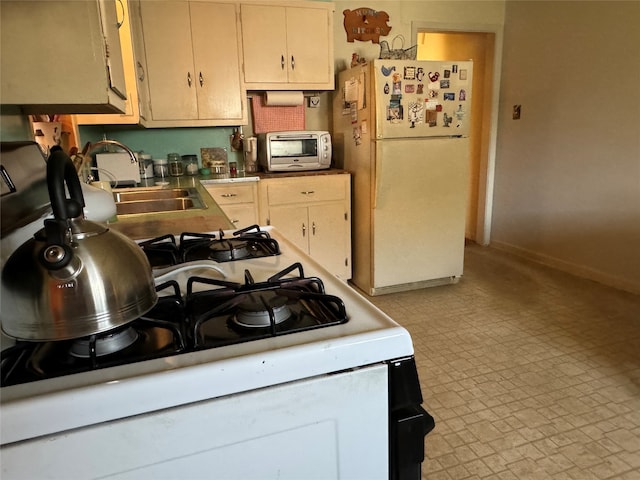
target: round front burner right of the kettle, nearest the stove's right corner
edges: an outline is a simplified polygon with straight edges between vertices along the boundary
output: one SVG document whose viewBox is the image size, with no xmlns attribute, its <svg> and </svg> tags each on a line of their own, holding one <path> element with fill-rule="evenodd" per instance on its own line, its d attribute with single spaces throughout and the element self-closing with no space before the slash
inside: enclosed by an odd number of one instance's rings
<svg viewBox="0 0 640 480">
<path fill-rule="evenodd" d="M 261 292 L 249 294 L 238 305 L 238 311 L 233 321 L 242 327 L 269 327 L 291 318 L 291 309 L 287 306 L 288 299 L 276 292 Z M 271 319 L 273 318 L 273 322 Z"/>
</svg>

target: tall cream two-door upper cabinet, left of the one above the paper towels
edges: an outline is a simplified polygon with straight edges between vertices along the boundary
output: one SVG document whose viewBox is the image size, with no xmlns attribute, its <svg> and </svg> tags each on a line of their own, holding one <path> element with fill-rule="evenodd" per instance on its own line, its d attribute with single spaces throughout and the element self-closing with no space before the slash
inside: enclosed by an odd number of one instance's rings
<svg viewBox="0 0 640 480">
<path fill-rule="evenodd" d="M 134 5 L 138 89 L 141 102 L 148 102 L 141 104 L 141 123 L 246 124 L 237 5 L 151 0 Z"/>
</svg>

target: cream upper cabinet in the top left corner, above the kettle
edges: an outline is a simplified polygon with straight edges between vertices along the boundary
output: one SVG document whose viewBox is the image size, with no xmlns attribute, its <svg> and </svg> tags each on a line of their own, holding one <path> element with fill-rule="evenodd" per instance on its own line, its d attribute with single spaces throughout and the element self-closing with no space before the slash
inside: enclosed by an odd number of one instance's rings
<svg viewBox="0 0 640 480">
<path fill-rule="evenodd" d="M 24 113 L 125 110 L 117 0 L 2 0 L 0 8 L 3 105 Z"/>
</svg>

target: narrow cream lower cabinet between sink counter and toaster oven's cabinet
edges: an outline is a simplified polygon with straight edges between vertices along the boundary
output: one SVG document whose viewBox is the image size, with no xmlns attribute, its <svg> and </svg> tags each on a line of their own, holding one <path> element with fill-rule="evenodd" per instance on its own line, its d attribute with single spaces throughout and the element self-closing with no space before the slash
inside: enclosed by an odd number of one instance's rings
<svg viewBox="0 0 640 480">
<path fill-rule="evenodd" d="M 234 228 L 258 223 L 257 182 L 210 184 L 205 188 L 229 217 Z"/>
</svg>

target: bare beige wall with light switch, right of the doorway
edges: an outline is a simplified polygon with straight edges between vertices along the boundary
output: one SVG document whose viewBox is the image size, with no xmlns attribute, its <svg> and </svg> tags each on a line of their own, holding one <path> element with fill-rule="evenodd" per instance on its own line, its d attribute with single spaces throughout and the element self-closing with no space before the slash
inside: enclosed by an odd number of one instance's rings
<svg viewBox="0 0 640 480">
<path fill-rule="evenodd" d="M 507 2 L 492 227 L 494 246 L 634 292 L 639 20 L 637 1 Z"/>
</svg>

